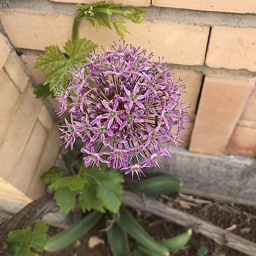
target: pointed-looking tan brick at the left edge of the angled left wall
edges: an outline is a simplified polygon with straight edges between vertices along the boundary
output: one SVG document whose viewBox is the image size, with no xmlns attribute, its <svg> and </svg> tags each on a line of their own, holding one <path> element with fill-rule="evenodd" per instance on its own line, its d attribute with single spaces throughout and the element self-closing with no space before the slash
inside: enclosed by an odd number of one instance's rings
<svg viewBox="0 0 256 256">
<path fill-rule="evenodd" d="M 17 109 L 21 98 L 17 87 L 12 83 L 10 77 L 2 69 L 0 71 L 0 143 L 4 138 L 6 129 L 11 122 L 12 115 Z"/>
</svg>

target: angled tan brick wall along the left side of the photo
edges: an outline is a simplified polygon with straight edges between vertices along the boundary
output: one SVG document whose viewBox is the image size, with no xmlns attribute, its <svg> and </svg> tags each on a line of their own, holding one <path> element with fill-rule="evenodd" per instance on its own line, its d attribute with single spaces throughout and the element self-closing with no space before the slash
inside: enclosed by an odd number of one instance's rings
<svg viewBox="0 0 256 256">
<path fill-rule="evenodd" d="M 58 131 L 2 34 L 0 88 L 0 196 L 29 202 L 44 192 L 39 176 L 55 162 Z"/>
</svg>

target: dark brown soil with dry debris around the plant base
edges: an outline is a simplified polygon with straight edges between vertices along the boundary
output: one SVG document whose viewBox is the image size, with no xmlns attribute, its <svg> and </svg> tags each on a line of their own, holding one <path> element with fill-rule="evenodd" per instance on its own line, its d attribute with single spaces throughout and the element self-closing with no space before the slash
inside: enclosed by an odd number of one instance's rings
<svg viewBox="0 0 256 256">
<path fill-rule="evenodd" d="M 228 229 L 236 235 L 256 242 L 256 207 L 238 205 L 230 202 L 215 202 L 205 198 L 199 198 L 189 195 L 179 194 L 159 197 L 159 201 L 180 209 L 182 211 L 193 214 L 201 219 L 209 221 L 219 227 Z M 148 231 L 148 233 L 155 239 L 169 238 L 185 231 L 184 228 L 174 225 L 170 221 L 160 219 L 148 214 L 132 210 L 132 213 L 140 222 L 140 224 Z M 73 245 L 56 253 L 41 253 L 41 256 L 111 256 L 109 247 L 107 245 L 105 233 L 100 230 L 105 228 L 105 220 L 101 220 L 89 234 L 79 239 Z M 59 230 L 51 228 L 51 234 L 57 233 Z M 104 244 L 100 243 L 93 248 L 89 248 L 89 239 L 99 238 L 103 240 Z M 102 242 L 102 241 L 101 241 Z M 131 239 L 131 244 L 133 243 Z M 244 256 L 227 247 L 219 246 L 210 239 L 201 235 L 193 234 L 190 243 L 182 250 L 173 253 L 174 256 L 196 256 L 196 250 L 201 245 L 207 245 L 211 250 L 209 255 L 217 252 L 226 253 L 227 256 Z M 122 255 L 121 255 L 122 256 Z M 156 255 L 157 256 L 157 255 Z"/>
</svg>

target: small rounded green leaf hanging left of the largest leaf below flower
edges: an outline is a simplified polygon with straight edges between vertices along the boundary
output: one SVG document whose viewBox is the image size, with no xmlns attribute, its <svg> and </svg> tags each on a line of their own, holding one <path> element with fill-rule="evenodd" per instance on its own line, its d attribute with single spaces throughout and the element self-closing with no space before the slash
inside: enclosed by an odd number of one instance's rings
<svg viewBox="0 0 256 256">
<path fill-rule="evenodd" d="M 56 204 L 60 206 L 60 210 L 68 213 L 76 205 L 76 194 L 76 191 L 72 191 L 68 187 L 60 187 L 55 191 L 53 198 L 56 200 Z"/>
</svg>

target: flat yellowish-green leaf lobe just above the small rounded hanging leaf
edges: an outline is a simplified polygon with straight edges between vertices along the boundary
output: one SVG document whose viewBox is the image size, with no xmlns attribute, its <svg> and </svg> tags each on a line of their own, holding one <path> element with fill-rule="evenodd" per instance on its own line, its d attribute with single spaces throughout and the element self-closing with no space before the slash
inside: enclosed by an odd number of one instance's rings
<svg viewBox="0 0 256 256">
<path fill-rule="evenodd" d="M 85 183 L 88 183 L 86 179 L 72 175 L 53 182 L 49 188 L 51 190 L 57 190 L 58 188 L 68 187 L 70 190 L 76 191 L 83 189 Z"/>
</svg>

